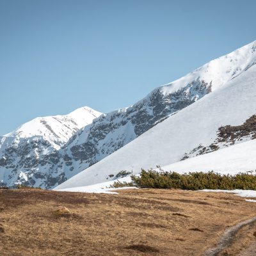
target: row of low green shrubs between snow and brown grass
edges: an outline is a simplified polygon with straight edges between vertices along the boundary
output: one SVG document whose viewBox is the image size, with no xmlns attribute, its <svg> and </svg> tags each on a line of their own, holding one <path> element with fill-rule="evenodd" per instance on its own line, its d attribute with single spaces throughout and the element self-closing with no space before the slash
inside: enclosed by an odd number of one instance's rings
<svg viewBox="0 0 256 256">
<path fill-rule="evenodd" d="M 238 173 L 221 175 L 214 172 L 156 172 L 141 170 L 140 176 L 131 175 L 132 182 L 115 182 L 113 188 L 136 186 L 138 188 L 157 189 L 252 189 L 256 190 L 256 175 Z"/>
</svg>

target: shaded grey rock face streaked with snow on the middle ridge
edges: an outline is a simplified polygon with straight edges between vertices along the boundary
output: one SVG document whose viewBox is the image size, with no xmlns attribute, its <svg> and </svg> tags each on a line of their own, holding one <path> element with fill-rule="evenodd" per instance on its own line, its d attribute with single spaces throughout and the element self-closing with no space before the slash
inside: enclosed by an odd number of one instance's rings
<svg viewBox="0 0 256 256">
<path fill-rule="evenodd" d="M 130 108 L 120 109 L 93 120 L 65 148 L 66 154 L 86 168 L 115 152 L 157 124 L 159 120 L 186 108 L 211 92 L 211 83 L 197 78 L 177 92 L 164 94 L 161 88 Z M 86 138 L 81 143 L 81 138 Z"/>
</svg>

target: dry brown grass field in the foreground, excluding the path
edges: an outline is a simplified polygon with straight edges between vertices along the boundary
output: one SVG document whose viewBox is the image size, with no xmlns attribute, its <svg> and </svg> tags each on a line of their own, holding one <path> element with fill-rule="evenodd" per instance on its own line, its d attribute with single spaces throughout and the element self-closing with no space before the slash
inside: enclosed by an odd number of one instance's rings
<svg viewBox="0 0 256 256">
<path fill-rule="evenodd" d="M 138 189 L 105 195 L 0 189 L 0 252 L 204 255 L 226 228 L 255 216 L 255 203 L 226 193 Z M 255 255 L 250 254 L 256 250 L 255 231 L 255 223 L 244 226 L 219 255 Z"/>
</svg>

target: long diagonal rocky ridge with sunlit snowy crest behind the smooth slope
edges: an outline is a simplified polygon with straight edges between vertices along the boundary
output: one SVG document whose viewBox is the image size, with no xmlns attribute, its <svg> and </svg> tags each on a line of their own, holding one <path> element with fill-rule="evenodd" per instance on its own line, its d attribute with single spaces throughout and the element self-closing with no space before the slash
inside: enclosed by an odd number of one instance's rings
<svg viewBox="0 0 256 256">
<path fill-rule="evenodd" d="M 218 90 L 255 63 L 256 42 L 252 42 L 210 61 L 173 83 L 156 88 L 129 108 L 118 109 L 93 120 L 65 147 L 63 154 L 72 159 L 67 164 L 63 161 L 66 177 L 72 177 L 124 147 L 157 122 Z"/>
</svg>

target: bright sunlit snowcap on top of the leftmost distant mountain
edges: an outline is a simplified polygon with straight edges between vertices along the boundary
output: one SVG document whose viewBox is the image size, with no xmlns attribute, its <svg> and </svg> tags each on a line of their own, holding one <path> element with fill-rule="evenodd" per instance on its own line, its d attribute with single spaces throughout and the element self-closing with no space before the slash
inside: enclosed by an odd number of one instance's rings
<svg viewBox="0 0 256 256">
<path fill-rule="evenodd" d="M 92 108 L 83 107 L 72 111 L 68 115 L 37 117 L 21 125 L 4 137 L 29 138 L 43 136 L 56 145 L 63 145 L 82 127 L 91 124 L 94 118 L 102 113 Z"/>
</svg>

